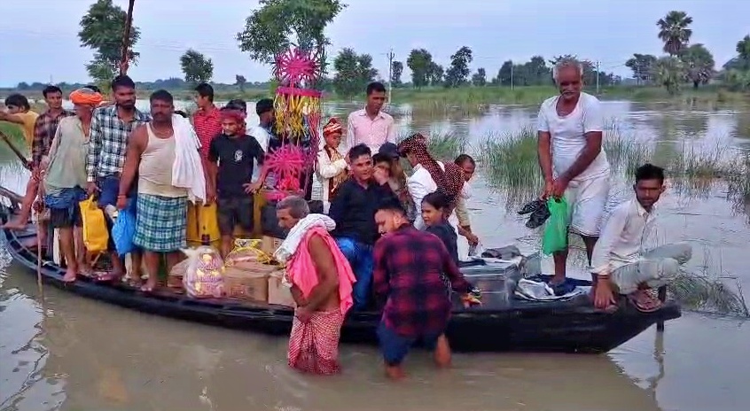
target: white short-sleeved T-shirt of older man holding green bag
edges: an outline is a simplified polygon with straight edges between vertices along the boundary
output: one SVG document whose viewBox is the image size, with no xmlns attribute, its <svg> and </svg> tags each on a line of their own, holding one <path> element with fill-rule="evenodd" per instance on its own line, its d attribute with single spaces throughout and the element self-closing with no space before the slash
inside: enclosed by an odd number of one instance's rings
<svg viewBox="0 0 750 411">
<path fill-rule="evenodd" d="M 565 173 L 586 147 L 586 133 L 604 131 L 604 114 L 597 97 L 581 93 L 573 112 L 558 115 L 559 96 L 548 98 L 539 108 L 537 129 L 551 134 L 552 174 Z M 574 181 L 583 181 L 609 173 L 605 151 L 599 155 Z"/>
</svg>

